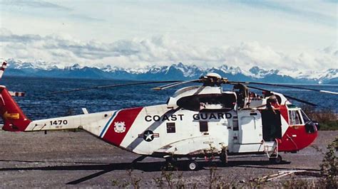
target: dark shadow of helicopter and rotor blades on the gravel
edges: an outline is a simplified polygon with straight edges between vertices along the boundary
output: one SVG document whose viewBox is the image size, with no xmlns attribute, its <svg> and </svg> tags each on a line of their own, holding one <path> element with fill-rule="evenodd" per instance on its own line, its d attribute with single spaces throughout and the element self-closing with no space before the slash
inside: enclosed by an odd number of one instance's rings
<svg viewBox="0 0 338 189">
<path fill-rule="evenodd" d="M 6 161 L 6 160 L 0 160 Z M 7 160 L 8 161 L 8 160 Z M 41 161 L 20 161 L 28 163 L 41 163 Z M 177 171 L 188 171 L 186 169 L 188 161 L 178 161 L 174 170 Z M 43 162 L 42 162 L 43 163 Z M 70 163 L 61 162 L 58 163 Z M 74 162 L 73 162 L 74 163 Z M 85 162 L 89 163 L 89 162 Z M 83 163 L 83 164 L 85 164 Z M 276 167 L 270 161 L 229 161 L 227 164 L 220 161 L 198 161 L 201 169 L 208 169 L 210 167 L 245 167 L 245 168 L 268 168 L 277 170 L 290 170 L 291 168 Z M 87 175 L 83 178 L 78 178 L 66 184 L 76 185 L 83 183 L 86 180 L 91 180 L 105 173 L 118 170 L 140 170 L 144 172 L 156 172 L 165 170 L 165 161 L 153 161 L 153 162 L 137 162 L 137 163 L 91 163 L 86 165 L 71 165 L 71 166 L 43 166 L 43 167 L 15 167 L 15 168 L 0 168 L 0 171 L 98 171 L 91 175 Z M 282 164 L 290 164 L 290 162 L 283 161 Z M 295 168 L 292 168 L 295 170 Z M 304 169 L 302 169 L 304 170 Z M 318 171 L 318 170 L 307 170 L 307 171 Z"/>
</svg>

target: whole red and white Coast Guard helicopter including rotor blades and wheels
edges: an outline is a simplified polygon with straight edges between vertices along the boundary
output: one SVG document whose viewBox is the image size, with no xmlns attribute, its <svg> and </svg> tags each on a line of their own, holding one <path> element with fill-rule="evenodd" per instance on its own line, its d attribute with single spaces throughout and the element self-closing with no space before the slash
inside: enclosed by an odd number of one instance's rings
<svg viewBox="0 0 338 189">
<path fill-rule="evenodd" d="M 5 68 L 6 63 L 1 67 L 0 75 Z M 188 158 L 189 170 L 198 169 L 198 161 L 195 161 L 197 158 L 211 156 L 219 156 L 226 163 L 227 156 L 265 153 L 270 161 L 280 163 L 280 152 L 295 153 L 312 144 L 319 126 L 288 99 L 315 104 L 252 87 L 250 84 L 292 87 L 338 95 L 337 92 L 290 85 L 229 81 L 216 73 L 202 76 L 198 80 L 165 82 L 170 84 L 154 89 L 165 90 L 193 82 L 203 85 L 177 90 L 166 104 L 92 114 L 83 109 L 84 114 L 36 121 L 28 119 L 12 98 L 24 93 L 9 92 L 5 86 L 0 86 L 0 114 L 4 119 L 2 129 L 83 129 L 109 144 L 141 155 L 135 161 L 141 161 L 146 156 L 165 158 L 168 162 Z M 165 82 L 138 82 L 64 92 Z M 233 90 L 223 91 L 222 85 L 233 85 Z M 262 90 L 264 96 L 250 92 L 249 88 Z"/>
</svg>

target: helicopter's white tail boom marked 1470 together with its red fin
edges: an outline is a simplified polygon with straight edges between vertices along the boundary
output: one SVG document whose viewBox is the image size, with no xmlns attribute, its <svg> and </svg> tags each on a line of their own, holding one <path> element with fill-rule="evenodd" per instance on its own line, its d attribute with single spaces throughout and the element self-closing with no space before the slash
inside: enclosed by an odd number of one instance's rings
<svg viewBox="0 0 338 189">
<path fill-rule="evenodd" d="M 4 120 L 2 129 L 5 131 L 84 129 L 91 134 L 99 136 L 101 125 L 105 124 L 114 112 L 116 111 L 31 121 L 15 102 L 11 92 L 5 86 L 0 85 L 0 114 Z"/>
</svg>

